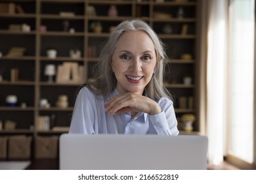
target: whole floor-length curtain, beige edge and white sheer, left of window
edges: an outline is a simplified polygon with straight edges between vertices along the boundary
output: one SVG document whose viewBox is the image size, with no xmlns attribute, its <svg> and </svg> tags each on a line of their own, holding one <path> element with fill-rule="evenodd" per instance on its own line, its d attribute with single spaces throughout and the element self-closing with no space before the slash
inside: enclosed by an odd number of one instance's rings
<svg viewBox="0 0 256 183">
<path fill-rule="evenodd" d="M 228 0 L 206 0 L 202 3 L 200 54 L 200 120 L 209 140 L 209 164 L 219 165 L 223 161 L 226 124 L 226 64 Z M 201 17 L 202 18 L 202 17 Z M 203 39 L 203 38 L 202 38 Z M 205 46 L 207 45 L 207 46 Z M 204 70 L 203 70 L 204 69 Z M 206 70 L 206 72 L 205 72 Z M 204 79 L 206 78 L 206 80 Z M 205 119 L 205 123 L 202 120 Z"/>
</svg>

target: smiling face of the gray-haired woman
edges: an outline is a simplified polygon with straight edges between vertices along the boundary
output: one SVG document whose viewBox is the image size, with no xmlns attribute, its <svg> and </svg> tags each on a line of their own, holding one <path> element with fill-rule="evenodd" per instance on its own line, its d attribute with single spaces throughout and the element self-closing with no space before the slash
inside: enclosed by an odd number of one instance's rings
<svg viewBox="0 0 256 183">
<path fill-rule="evenodd" d="M 156 52 L 150 37 L 143 31 L 127 31 L 121 35 L 112 56 L 112 70 L 119 93 L 142 95 L 156 65 Z"/>
</svg>

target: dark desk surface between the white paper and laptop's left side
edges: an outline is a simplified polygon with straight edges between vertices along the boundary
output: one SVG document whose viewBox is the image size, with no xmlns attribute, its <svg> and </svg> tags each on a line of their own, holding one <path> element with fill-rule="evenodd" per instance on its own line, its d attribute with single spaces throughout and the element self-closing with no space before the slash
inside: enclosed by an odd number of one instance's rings
<svg viewBox="0 0 256 183">
<path fill-rule="evenodd" d="M 58 170 L 58 159 L 32 159 L 26 170 Z"/>
</svg>

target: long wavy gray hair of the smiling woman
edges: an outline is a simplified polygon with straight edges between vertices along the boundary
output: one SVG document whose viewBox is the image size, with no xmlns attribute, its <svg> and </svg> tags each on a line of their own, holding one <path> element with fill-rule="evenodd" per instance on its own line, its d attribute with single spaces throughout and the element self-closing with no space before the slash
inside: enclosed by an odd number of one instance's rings
<svg viewBox="0 0 256 183">
<path fill-rule="evenodd" d="M 98 63 L 98 67 L 95 73 L 95 80 L 86 82 L 83 86 L 87 86 L 96 94 L 108 95 L 116 88 L 117 80 L 116 76 L 112 72 L 110 65 L 112 61 L 112 55 L 116 49 L 117 41 L 119 37 L 126 31 L 140 30 L 144 31 L 153 41 L 157 63 L 154 68 L 154 76 L 145 88 L 145 93 L 150 99 L 160 99 L 161 97 L 171 97 L 167 89 L 163 85 L 163 71 L 164 65 L 167 61 L 167 55 L 165 53 L 165 46 L 163 42 L 158 38 L 158 35 L 153 29 L 142 20 L 125 20 L 121 24 L 117 25 L 116 29 L 111 33 L 110 37 L 106 41 L 104 48 L 100 54 L 101 61 Z M 83 87 L 81 86 L 81 87 Z"/>
</svg>

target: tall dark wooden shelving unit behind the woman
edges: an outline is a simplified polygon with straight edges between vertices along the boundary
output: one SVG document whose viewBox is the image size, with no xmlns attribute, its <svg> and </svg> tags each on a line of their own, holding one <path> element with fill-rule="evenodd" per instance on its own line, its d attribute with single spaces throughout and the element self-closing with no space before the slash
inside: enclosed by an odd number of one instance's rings
<svg viewBox="0 0 256 183">
<path fill-rule="evenodd" d="M 12 120 L 17 127 L 12 131 L 0 130 L 0 135 L 26 134 L 37 137 L 37 135 L 61 134 L 65 131 L 37 131 L 39 116 L 56 115 L 54 124 L 56 126 L 70 125 L 72 110 L 74 107 L 74 94 L 79 83 L 58 84 L 47 82 L 43 75 L 45 65 L 54 64 L 56 67 L 65 62 L 74 62 L 83 66 L 85 76 L 83 82 L 92 78 L 91 69 L 95 63 L 100 61 L 98 54 L 100 45 L 109 35 L 110 26 L 132 18 L 140 18 L 158 33 L 160 39 L 167 46 L 167 53 L 170 61 L 167 67 L 165 83 L 175 98 L 175 112 L 177 118 L 184 113 L 192 113 L 198 119 L 198 76 L 196 68 L 200 64 L 197 60 L 196 48 L 198 48 L 198 14 L 199 1 L 175 2 L 165 1 L 158 3 L 154 0 L 137 1 L 100 1 L 100 0 L 21 0 L 5 1 L 4 3 L 15 3 L 24 9 L 24 13 L 0 12 L 0 74 L 3 81 L 0 81 L 0 120 Z M 116 5 L 117 17 L 108 16 L 110 5 Z M 88 15 L 88 7 L 94 7 L 96 16 Z M 177 18 L 177 10 L 184 9 L 184 18 Z M 74 12 L 74 16 L 60 16 L 60 12 Z M 156 12 L 169 14 L 170 18 L 158 18 Z M 68 22 L 68 31 L 64 31 L 64 21 Z M 100 22 L 101 33 L 94 33 L 90 29 L 92 22 Z M 11 31 L 11 24 L 28 24 L 31 31 Z M 182 35 L 182 25 L 188 26 L 187 33 Z M 40 25 L 45 25 L 47 31 L 40 31 Z M 171 26 L 171 33 L 164 33 L 163 27 Z M 75 32 L 70 33 L 69 29 L 74 28 Z M 26 48 L 26 54 L 19 57 L 8 57 L 7 54 L 12 47 Z M 56 48 L 57 58 L 47 58 L 47 48 Z M 72 59 L 69 56 L 71 49 L 81 51 L 81 58 Z M 90 49 L 95 51 L 89 53 Z M 182 59 L 182 54 L 190 54 L 191 59 Z M 19 78 L 11 82 L 11 69 L 19 69 Z M 185 85 L 182 82 L 184 74 L 192 76 L 192 84 Z M 55 80 L 56 78 L 54 78 Z M 5 98 L 7 95 L 17 95 L 18 107 L 6 107 Z M 68 96 L 68 108 L 55 107 L 58 95 Z M 179 107 L 179 97 L 193 97 L 193 108 Z M 39 107 L 40 99 L 47 98 L 51 103 L 50 108 Z M 20 107 L 26 103 L 27 107 Z M 194 124 L 194 131 L 200 131 L 197 120 Z M 182 131 L 182 133 L 186 133 Z"/>
</svg>

